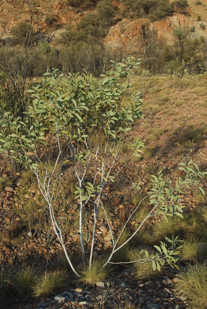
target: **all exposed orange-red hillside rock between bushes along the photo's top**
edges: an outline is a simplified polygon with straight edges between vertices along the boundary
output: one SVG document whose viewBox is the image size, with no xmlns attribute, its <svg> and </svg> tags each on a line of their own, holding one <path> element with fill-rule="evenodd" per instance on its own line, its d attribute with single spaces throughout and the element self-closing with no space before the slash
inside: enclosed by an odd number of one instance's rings
<svg viewBox="0 0 207 309">
<path fill-rule="evenodd" d="M 189 0 L 188 14 L 174 14 L 165 19 L 151 22 L 148 19 L 122 19 L 110 28 L 109 34 L 105 39 L 107 45 L 117 46 L 118 44 L 128 44 L 129 47 L 137 48 L 139 46 L 140 34 L 142 33 L 142 25 L 149 24 L 151 29 L 156 29 L 160 38 L 173 41 L 173 30 L 182 26 L 194 26 L 194 37 L 207 37 L 207 28 L 202 27 L 207 24 L 207 0 L 202 1 L 202 5 L 196 5 L 194 0 Z M 123 6 L 123 2 L 113 1 L 114 7 Z M 35 29 L 39 32 L 44 32 L 46 27 L 45 17 L 54 15 L 59 25 L 59 30 L 68 24 L 75 24 L 88 11 L 80 11 L 77 13 L 68 5 L 66 1 L 59 0 L 39 0 L 35 1 Z M 198 15 L 201 15 L 201 20 L 198 21 Z M 117 16 L 119 18 L 119 16 Z M 5 38 L 10 35 L 11 28 L 20 21 L 29 20 L 29 9 L 26 0 L 6 0 L 0 2 L 0 33 L 1 37 Z"/>
</svg>

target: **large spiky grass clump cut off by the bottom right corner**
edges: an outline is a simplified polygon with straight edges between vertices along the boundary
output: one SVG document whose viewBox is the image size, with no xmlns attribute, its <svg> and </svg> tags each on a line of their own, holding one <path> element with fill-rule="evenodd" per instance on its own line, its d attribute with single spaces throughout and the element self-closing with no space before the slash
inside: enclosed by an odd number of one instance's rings
<svg viewBox="0 0 207 309">
<path fill-rule="evenodd" d="M 207 308 L 207 268 L 206 264 L 188 265 L 186 271 L 179 274 L 175 285 L 175 295 L 185 298 L 191 309 Z"/>
</svg>

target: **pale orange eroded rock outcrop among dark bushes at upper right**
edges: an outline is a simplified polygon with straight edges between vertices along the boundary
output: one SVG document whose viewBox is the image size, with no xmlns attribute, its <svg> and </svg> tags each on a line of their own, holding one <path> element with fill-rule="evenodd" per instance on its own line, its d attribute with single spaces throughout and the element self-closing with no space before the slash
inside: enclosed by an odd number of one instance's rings
<svg viewBox="0 0 207 309">
<path fill-rule="evenodd" d="M 105 44 L 110 47 L 127 46 L 128 49 L 139 49 L 143 39 L 143 27 L 149 26 L 150 30 L 157 32 L 158 39 L 166 43 L 173 44 L 175 41 L 174 30 L 179 27 L 195 27 L 192 32 L 192 38 L 204 36 L 207 38 L 207 27 L 204 29 L 202 24 L 207 23 L 197 21 L 187 15 L 174 14 L 173 16 L 151 22 L 147 18 L 142 19 L 123 19 L 115 26 L 110 28 L 108 36 L 105 38 Z M 202 28 L 201 28 L 202 27 Z"/>
</svg>

